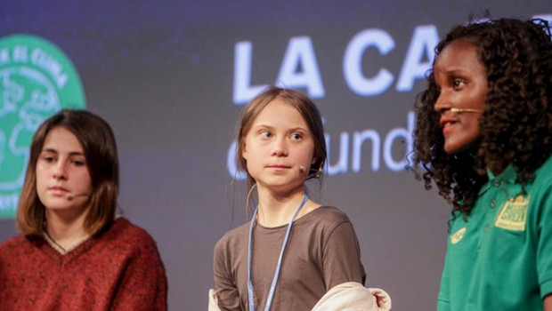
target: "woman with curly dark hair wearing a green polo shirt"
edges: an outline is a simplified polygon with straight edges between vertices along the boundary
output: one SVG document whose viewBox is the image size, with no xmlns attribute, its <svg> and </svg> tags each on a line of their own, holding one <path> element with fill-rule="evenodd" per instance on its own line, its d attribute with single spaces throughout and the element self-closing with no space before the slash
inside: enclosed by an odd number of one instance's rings
<svg viewBox="0 0 552 311">
<path fill-rule="evenodd" d="M 438 310 L 552 310 L 552 41 L 457 26 L 417 100 L 411 168 L 452 204 Z"/>
</svg>

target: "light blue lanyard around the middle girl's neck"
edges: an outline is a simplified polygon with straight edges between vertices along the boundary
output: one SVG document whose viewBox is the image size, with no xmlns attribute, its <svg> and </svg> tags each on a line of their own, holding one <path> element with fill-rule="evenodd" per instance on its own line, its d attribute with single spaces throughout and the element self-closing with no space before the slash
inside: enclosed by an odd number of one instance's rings
<svg viewBox="0 0 552 311">
<path fill-rule="evenodd" d="M 276 271 L 274 272 L 274 277 L 272 278 L 271 290 L 268 292 L 268 298 L 266 299 L 266 305 L 264 306 L 264 311 L 269 311 L 272 305 L 272 299 L 274 298 L 274 291 L 276 290 L 276 283 L 278 283 L 278 276 L 280 275 L 281 259 L 284 257 L 284 251 L 286 250 L 286 245 L 288 244 L 289 233 L 291 232 L 291 226 L 293 224 L 293 219 L 296 218 L 297 212 L 301 210 L 306 200 L 309 196 L 304 195 L 303 201 L 297 207 L 296 212 L 293 214 L 288 223 L 288 230 L 284 236 L 284 243 L 281 245 L 280 258 L 278 259 L 278 265 L 276 265 Z M 253 300 L 253 283 L 251 283 L 251 241 L 253 239 L 253 226 L 256 222 L 256 212 L 259 209 L 257 206 L 255 212 L 253 213 L 253 219 L 251 219 L 251 225 L 249 226 L 249 241 L 248 241 L 248 301 L 249 301 L 249 311 L 255 311 L 255 301 Z"/>
</svg>

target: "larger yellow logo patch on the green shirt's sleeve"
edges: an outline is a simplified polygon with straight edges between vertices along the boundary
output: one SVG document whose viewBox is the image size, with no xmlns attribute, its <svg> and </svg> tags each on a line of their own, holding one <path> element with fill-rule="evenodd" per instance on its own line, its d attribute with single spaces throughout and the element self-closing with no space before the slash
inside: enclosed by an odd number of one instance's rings
<svg viewBox="0 0 552 311">
<path fill-rule="evenodd" d="M 508 199 L 502 205 L 494 226 L 512 231 L 525 231 L 528 206 L 529 197 L 517 195 L 513 199 Z"/>
</svg>

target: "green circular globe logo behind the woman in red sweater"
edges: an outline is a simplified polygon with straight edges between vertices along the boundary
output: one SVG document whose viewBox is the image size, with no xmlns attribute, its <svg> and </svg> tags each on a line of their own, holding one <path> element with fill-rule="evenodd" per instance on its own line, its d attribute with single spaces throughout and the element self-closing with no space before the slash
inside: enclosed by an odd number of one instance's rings
<svg viewBox="0 0 552 311">
<path fill-rule="evenodd" d="M 37 36 L 0 38 L 0 219 L 15 214 L 33 134 L 62 108 L 85 108 L 67 56 Z"/>
</svg>

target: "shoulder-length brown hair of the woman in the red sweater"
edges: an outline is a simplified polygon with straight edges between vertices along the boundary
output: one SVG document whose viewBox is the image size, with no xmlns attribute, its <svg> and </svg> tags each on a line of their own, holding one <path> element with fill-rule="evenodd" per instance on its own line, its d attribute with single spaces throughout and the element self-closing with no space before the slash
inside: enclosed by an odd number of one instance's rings
<svg viewBox="0 0 552 311">
<path fill-rule="evenodd" d="M 94 235 L 115 217 L 118 196 L 118 155 L 110 125 L 85 110 L 61 110 L 40 125 L 30 147 L 25 183 L 17 210 L 17 225 L 23 235 L 42 235 L 45 231 L 45 206 L 37 195 L 37 160 L 46 136 L 54 128 L 72 132 L 85 151 L 86 166 L 92 179 L 92 195 L 85 230 Z"/>
</svg>

